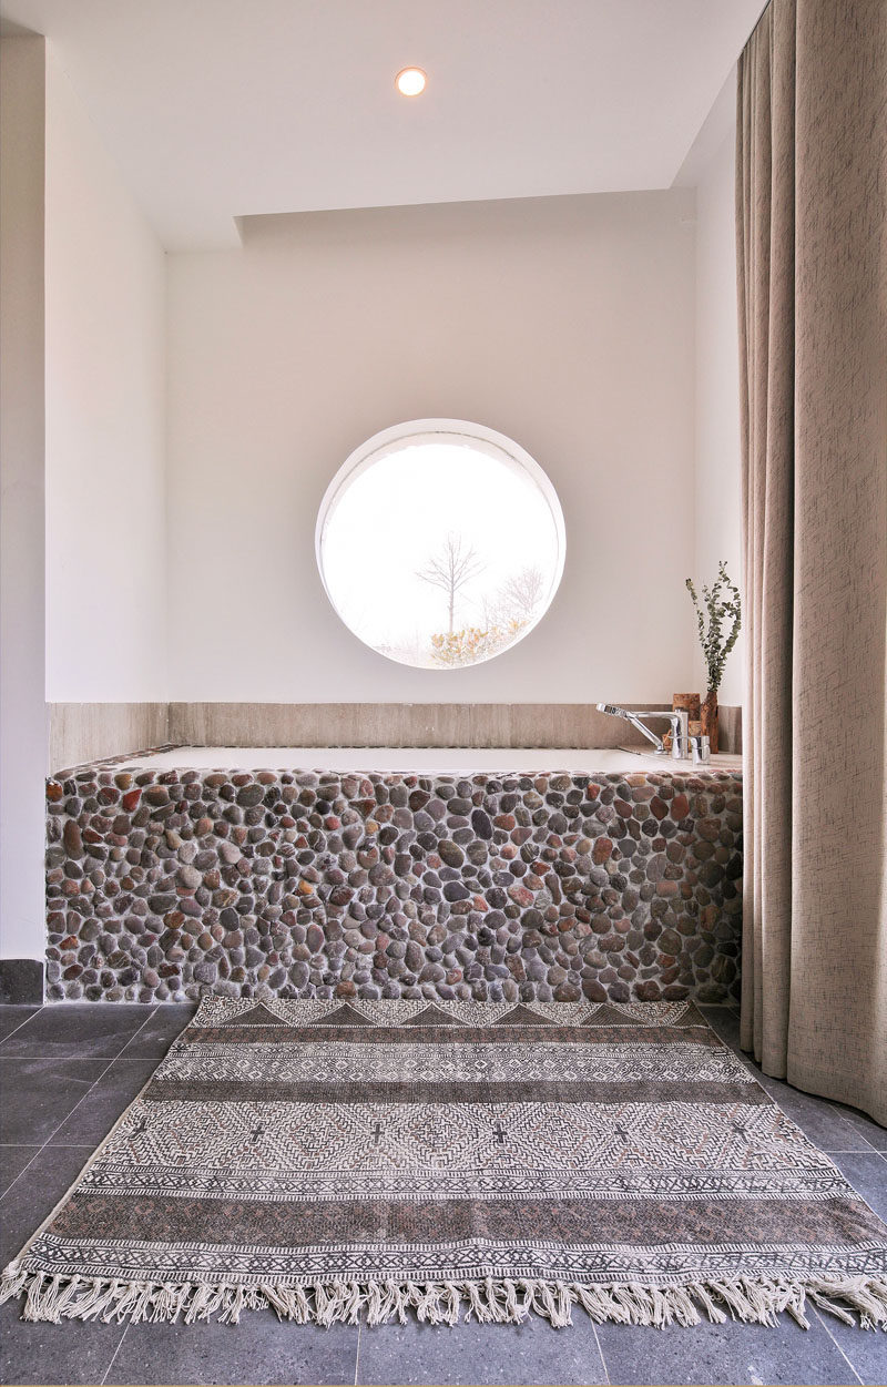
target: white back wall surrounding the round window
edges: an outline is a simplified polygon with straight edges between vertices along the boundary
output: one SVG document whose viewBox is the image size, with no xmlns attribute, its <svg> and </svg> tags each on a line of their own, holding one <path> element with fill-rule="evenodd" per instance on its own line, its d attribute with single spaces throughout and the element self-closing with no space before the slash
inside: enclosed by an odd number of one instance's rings
<svg viewBox="0 0 887 1387">
<path fill-rule="evenodd" d="M 243 250 L 171 257 L 171 696 L 593 702 L 689 687 L 691 219 L 683 190 L 315 214 L 250 219 Z M 335 616 L 314 526 L 357 444 L 444 416 L 541 463 L 566 569 L 508 653 L 409 670 Z"/>
</svg>

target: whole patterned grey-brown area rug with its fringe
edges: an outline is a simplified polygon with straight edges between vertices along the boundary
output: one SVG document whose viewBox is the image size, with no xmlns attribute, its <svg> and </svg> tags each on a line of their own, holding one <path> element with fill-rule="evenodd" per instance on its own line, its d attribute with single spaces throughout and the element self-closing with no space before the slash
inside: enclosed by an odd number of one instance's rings
<svg viewBox="0 0 887 1387">
<path fill-rule="evenodd" d="M 207 997 L 24 1319 L 887 1327 L 887 1226 L 687 1003 Z"/>
</svg>

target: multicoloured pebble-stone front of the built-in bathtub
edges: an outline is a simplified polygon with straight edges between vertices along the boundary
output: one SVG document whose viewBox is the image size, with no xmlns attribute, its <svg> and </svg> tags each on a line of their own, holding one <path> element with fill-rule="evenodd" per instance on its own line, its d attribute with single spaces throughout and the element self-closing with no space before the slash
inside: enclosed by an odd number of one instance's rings
<svg viewBox="0 0 887 1387">
<path fill-rule="evenodd" d="M 738 773 L 47 781 L 47 996 L 738 994 Z"/>
</svg>

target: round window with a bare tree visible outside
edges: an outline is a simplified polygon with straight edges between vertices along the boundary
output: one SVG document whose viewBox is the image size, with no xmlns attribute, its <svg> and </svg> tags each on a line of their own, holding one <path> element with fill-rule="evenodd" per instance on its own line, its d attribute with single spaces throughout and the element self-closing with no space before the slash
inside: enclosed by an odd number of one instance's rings
<svg viewBox="0 0 887 1387">
<path fill-rule="evenodd" d="M 458 419 L 375 434 L 333 477 L 316 526 L 336 612 L 419 669 L 501 655 L 541 620 L 564 571 L 554 487 L 511 438 Z"/>
</svg>

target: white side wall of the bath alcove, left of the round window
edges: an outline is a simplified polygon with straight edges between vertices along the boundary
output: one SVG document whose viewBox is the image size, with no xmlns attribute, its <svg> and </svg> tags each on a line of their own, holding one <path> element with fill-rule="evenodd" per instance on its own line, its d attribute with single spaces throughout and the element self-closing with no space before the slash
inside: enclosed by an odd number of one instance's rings
<svg viewBox="0 0 887 1387">
<path fill-rule="evenodd" d="M 50 54 L 46 696 L 167 694 L 165 255 Z"/>
</svg>

